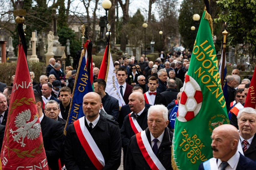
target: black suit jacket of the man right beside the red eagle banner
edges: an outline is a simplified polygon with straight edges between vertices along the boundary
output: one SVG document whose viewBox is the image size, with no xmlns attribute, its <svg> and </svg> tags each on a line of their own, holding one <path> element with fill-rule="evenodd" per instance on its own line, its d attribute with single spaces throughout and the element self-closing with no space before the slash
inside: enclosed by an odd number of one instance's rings
<svg viewBox="0 0 256 170">
<path fill-rule="evenodd" d="M 48 165 L 52 170 L 58 169 L 58 160 L 64 139 L 62 124 L 46 116 L 43 117 L 40 124 Z"/>
</svg>

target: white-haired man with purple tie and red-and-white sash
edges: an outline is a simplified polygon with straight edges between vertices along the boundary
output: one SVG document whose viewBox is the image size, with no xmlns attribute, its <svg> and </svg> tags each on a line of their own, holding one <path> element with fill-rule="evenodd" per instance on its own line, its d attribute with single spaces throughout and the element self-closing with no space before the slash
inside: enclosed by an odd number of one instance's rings
<svg viewBox="0 0 256 170">
<path fill-rule="evenodd" d="M 147 117 L 148 128 L 137 133 L 130 140 L 124 169 L 133 170 L 141 167 L 156 169 L 157 167 L 157 169 L 172 170 L 170 160 L 173 133 L 167 128 L 168 110 L 164 105 L 154 105 L 149 108 Z M 145 150 L 149 157 L 142 154 L 142 150 Z M 148 163 L 152 158 L 157 159 L 154 159 L 154 163 Z"/>
</svg>

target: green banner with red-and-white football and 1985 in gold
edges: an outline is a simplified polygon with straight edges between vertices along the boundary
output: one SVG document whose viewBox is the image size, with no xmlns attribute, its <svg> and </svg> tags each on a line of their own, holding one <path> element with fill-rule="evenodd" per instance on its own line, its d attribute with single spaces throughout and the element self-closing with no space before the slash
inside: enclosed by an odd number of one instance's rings
<svg viewBox="0 0 256 170">
<path fill-rule="evenodd" d="M 206 17 L 207 16 L 207 17 Z M 229 123 L 209 13 L 204 11 L 179 103 L 173 137 L 174 169 L 198 169 L 212 158 L 212 130 Z"/>
</svg>

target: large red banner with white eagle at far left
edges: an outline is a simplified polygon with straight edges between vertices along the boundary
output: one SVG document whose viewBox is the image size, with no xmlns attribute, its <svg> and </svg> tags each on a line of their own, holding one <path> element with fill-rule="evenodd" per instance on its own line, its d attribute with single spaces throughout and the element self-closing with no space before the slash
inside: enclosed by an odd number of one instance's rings
<svg viewBox="0 0 256 170">
<path fill-rule="evenodd" d="M 48 170 L 23 45 L 20 46 L 15 77 L 1 151 L 2 168 Z"/>
</svg>

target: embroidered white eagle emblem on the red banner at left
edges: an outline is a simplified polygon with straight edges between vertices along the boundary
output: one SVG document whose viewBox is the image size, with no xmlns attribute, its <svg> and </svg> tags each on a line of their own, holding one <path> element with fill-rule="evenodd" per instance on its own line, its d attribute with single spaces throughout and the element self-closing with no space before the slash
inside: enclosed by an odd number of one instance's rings
<svg viewBox="0 0 256 170">
<path fill-rule="evenodd" d="M 19 113 L 14 121 L 14 124 L 17 127 L 17 130 L 10 129 L 10 132 L 13 137 L 13 141 L 16 141 L 17 143 L 21 144 L 21 147 L 25 147 L 25 143 L 23 143 L 24 138 L 27 136 L 28 139 L 36 139 L 40 135 L 41 132 L 41 125 L 40 123 L 35 123 L 38 120 L 37 116 L 34 116 L 34 120 L 31 122 L 28 122 L 31 118 L 31 112 L 30 110 L 25 110 L 24 112 Z M 28 122 L 28 123 L 27 123 Z M 14 134 L 17 132 L 16 134 Z M 21 141 L 20 141 L 20 138 Z"/>
</svg>

